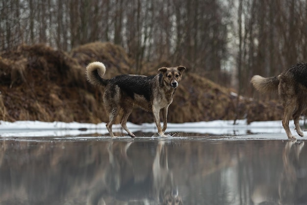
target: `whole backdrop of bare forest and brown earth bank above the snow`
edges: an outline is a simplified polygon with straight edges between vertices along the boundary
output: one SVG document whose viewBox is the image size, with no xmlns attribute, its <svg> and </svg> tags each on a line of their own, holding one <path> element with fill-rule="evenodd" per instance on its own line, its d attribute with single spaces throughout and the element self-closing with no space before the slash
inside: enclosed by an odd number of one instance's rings
<svg viewBox="0 0 307 205">
<path fill-rule="evenodd" d="M 304 62 L 306 25 L 307 0 L 0 0 L 0 119 L 106 121 L 97 60 L 106 78 L 186 66 L 171 122 L 280 119 L 250 79 Z"/>
</svg>

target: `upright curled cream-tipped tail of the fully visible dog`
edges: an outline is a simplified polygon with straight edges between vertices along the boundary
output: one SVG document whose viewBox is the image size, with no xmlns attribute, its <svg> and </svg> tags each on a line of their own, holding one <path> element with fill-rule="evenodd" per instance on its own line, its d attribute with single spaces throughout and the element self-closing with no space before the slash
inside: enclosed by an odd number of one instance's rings
<svg viewBox="0 0 307 205">
<path fill-rule="evenodd" d="M 91 62 L 86 66 L 86 78 L 93 86 L 106 86 L 108 80 L 103 79 L 105 66 L 102 62 Z"/>
</svg>

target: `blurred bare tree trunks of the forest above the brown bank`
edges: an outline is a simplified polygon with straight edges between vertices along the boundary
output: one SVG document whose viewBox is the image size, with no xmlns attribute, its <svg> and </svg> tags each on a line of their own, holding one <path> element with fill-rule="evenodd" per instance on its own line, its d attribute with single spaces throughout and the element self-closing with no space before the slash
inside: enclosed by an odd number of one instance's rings
<svg viewBox="0 0 307 205">
<path fill-rule="evenodd" d="M 253 95 L 249 79 L 307 59 L 307 0 L 0 0 L 0 50 L 94 41 Z"/>
</svg>

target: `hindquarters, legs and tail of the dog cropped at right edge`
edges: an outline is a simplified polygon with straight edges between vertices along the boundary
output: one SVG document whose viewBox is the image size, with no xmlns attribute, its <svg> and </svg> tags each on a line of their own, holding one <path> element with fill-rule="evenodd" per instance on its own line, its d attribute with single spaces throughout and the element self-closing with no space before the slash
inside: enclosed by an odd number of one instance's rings
<svg viewBox="0 0 307 205">
<path fill-rule="evenodd" d="M 292 117 L 296 132 L 303 137 L 299 117 L 307 108 L 307 63 L 298 63 L 275 77 L 259 75 L 251 79 L 253 86 L 261 93 L 278 92 L 283 106 L 282 126 L 289 139 L 296 139 L 289 128 Z"/>
</svg>

